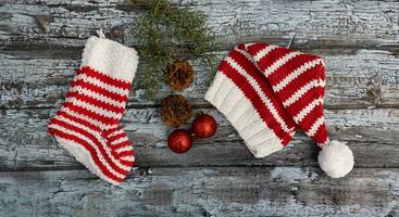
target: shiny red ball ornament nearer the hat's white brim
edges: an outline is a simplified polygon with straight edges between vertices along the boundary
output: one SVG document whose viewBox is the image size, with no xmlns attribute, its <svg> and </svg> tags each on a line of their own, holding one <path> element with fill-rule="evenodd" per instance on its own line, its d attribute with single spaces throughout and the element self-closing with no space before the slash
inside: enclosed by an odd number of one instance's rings
<svg viewBox="0 0 399 217">
<path fill-rule="evenodd" d="M 196 137 L 205 139 L 216 133 L 217 123 L 211 115 L 200 114 L 192 122 L 192 132 Z"/>
</svg>

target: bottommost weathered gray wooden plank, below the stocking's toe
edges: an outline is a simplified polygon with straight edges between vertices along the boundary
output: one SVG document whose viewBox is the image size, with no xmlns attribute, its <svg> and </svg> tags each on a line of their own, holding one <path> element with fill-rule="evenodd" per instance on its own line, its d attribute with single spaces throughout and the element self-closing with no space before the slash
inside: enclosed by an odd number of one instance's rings
<svg viewBox="0 0 399 217">
<path fill-rule="evenodd" d="M 119 187 L 86 170 L 0 173 L 0 215 L 398 216 L 399 170 L 331 179 L 309 167 L 133 171 Z"/>
</svg>

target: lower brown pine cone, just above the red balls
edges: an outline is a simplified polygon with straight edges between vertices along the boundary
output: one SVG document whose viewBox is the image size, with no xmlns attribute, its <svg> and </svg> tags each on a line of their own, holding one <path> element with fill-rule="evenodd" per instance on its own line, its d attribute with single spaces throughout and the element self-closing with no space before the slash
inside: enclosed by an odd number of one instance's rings
<svg viewBox="0 0 399 217">
<path fill-rule="evenodd" d="M 191 104 L 183 95 L 171 94 L 161 102 L 161 116 L 166 125 L 178 127 L 191 116 Z"/>
</svg>

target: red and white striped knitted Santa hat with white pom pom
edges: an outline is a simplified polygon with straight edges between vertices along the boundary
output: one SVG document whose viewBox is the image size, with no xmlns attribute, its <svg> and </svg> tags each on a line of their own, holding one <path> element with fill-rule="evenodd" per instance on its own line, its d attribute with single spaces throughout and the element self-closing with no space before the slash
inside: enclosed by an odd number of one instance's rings
<svg viewBox="0 0 399 217">
<path fill-rule="evenodd" d="M 353 154 L 328 139 L 324 88 L 320 56 L 263 42 L 241 43 L 220 64 L 205 100 L 226 116 L 255 157 L 283 149 L 300 128 L 322 149 L 321 168 L 338 178 L 353 168 Z"/>
</svg>

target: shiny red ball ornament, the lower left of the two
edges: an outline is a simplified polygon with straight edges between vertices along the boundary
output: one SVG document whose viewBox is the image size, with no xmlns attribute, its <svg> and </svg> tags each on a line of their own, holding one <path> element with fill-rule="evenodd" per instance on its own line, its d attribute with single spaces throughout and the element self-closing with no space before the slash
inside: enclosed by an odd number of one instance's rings
<svg viewBox="0 0 399 217">
<path fill-rule="evenodd" d="M 174 130 L 167 138 L 169 148 L 175 153 L 185 153 L 191 149 L 192 139 L 189 131 L 185 129 Z"/>
</svg>

